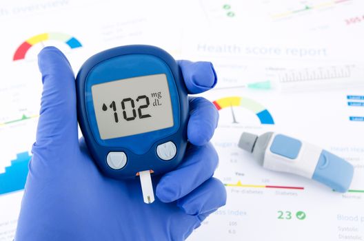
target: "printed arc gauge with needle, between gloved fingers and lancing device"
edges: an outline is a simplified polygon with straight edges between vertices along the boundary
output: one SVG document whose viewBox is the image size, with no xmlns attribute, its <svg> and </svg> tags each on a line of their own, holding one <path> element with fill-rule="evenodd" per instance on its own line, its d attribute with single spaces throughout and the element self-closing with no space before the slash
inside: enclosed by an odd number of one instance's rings
<svg viewBox="0 0 364 241">
<path fill-rule="evenodd" d="M 249 109 L 251 112 L 256 114 L 261 121 L 261 124 L 265 125 L 274 125 L 274 120 L 270 112 L 260 103 L 253 101 L 250 98 L 244 98 L 241 96 L 230 96 L 225 98 L 219 98 L 219 100 L 213 101 L 214 105 L 218 110 L 226 108 L 226 107 L 243 107 L 245 109 Z M 234 111 L 232 109 L 232 118 L 233 123 L 237 123 L 234 115 Z"/>
</svg>

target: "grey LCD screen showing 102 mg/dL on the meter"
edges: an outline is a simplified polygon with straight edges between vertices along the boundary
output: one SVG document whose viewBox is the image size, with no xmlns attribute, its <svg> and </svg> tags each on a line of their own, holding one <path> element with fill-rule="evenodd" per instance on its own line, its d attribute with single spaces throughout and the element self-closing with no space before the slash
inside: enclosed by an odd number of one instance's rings
<svg viewBox="0 0 364 241">
<path fill-rule="evenodd" d="M 165 74 L 92 85 L 91 92 L 103 140 L 152 132 L 174 124 Z"/>
</svg>

